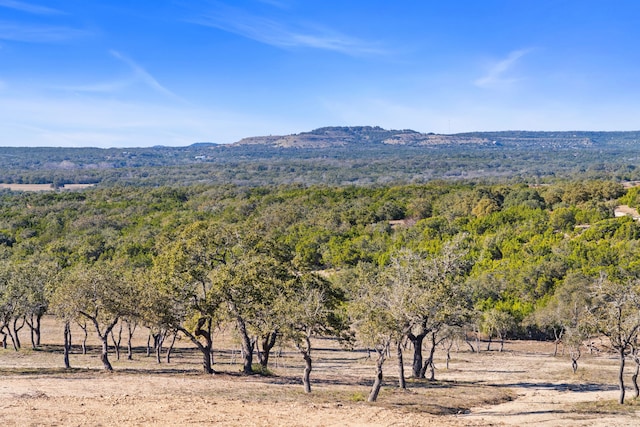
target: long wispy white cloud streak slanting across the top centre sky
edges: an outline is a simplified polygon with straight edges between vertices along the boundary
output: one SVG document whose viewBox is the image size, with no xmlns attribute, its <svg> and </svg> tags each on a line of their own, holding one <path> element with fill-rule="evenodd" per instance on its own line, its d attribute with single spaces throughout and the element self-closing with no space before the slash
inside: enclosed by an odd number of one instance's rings
<svg viewBox="0 0 640 427">
<path fill-rule="evenodd" d="M 279 48 L 311 48 L 347 55 L 383 54 L 373 43 L 313 25 L 292 26 L 218 4 L 216 11 L 190 22 L 237 34 Z"/>
</svg>

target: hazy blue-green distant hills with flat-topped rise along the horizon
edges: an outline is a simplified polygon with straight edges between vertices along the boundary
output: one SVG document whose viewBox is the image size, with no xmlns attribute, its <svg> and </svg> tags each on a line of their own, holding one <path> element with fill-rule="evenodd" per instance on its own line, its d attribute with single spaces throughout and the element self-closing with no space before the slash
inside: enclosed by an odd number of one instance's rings
<svg viewBox="0 0 640 427">
<path fill-rule="evenodd" d="M 442 135 L 377 126 L 324 127 L 186 147 L 0 147 L 0 183 L 59 188 L 66 184 L 387 185 L 437 179 L 638 181 L 639 148 L 640 131 Z"/>
</svg>

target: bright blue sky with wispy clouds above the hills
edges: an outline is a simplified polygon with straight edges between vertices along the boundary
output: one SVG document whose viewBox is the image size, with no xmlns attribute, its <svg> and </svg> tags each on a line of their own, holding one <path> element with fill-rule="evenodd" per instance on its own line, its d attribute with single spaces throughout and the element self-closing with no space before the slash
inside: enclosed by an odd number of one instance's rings
<svg viewBox="0 0 640 427">
<path fill-rule="evenodd" d="M 635 0 L 0 0 L 0 145 L 640 129 Z"/>
</svg>

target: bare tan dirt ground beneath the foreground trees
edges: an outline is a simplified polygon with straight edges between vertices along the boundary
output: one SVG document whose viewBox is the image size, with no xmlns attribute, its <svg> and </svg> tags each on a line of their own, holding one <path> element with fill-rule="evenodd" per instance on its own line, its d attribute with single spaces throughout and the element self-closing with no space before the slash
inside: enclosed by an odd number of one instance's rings
<svg viewBox="0 0 640 427">
<path fill-rule="evenodd" d="M 74 334 L 79 344 L 80 330 Z M 624 406 L 615 403 L 614 357 L 585 355 L 574 375 L 567 358 L 552 357 L 548 343 L 508 342 L 502 353 L 479 354 L 461 346 L 450 369 L 436 360 L 437 381 L 409 380 L 407 391 L 397 388 L 392 357 L 371 404 L 374 361 L 330 340 L 316 341 L 313 392 L 305 394 L 302 359 L 289 348 L 274 355 L 273 375 L 240 375 L 231 332 L 217 336 L 215 345 L 224 350 L 215 353 L 215 375 L 200 373 L 199 356 L 186 340 L 177 343 L 170 364 L 146 357 L 145 330 L 136 332 L 134 360 L 124 351 L 120 360 L 111 354 L 113 373 L 102 371 L 93 339 L 87 355 L 74 347 L 74 369 L 65 371 L 61 336 L 49 319 L 42 350 L 27 349 L 26 334 L 20 352 L 0 349 L 0 425 L 622 426 L 637 425 L 640 413 L 632 396 Z"/>
</svg>

